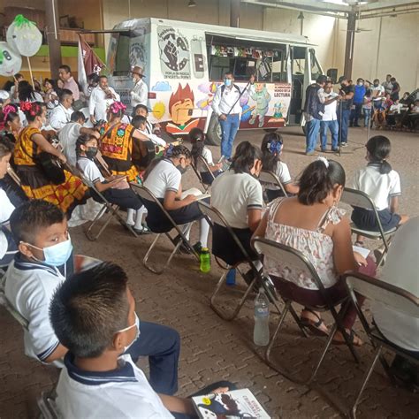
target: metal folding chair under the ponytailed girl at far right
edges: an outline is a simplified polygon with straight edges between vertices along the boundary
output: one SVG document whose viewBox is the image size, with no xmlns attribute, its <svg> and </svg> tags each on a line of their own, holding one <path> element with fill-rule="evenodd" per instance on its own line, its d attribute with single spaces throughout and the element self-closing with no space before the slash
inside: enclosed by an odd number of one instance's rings
<svg viewBox="0 0 419 419">
<path fill-rule="evenodd" d="M 383 244 L 385 246 L 385 251 L 381 254 L 381 256 L 378 258 L 377 267 L 380 266 L 382 262 L 385 260 L 385 255 L 388 252 L 388 248 L 390 245 L 390 240 L 394 233 L 397 231 L 398 227 L 394 227 L 391 230 L 385 232 L 383 230 L 383 225 L 381 225 L 380 217 L 378 217 L 377 208 L 372 202 L 371 198 L 369 198 L 368 194 L 365 194 L 362 191 L 359 191 L 357 189 L 351 189 L 349 187 L 346 187 L 343 190 L 342 196 L 340 198 L 341 202 L 345 202 L 348 205 L 351 205 L 352 207 L 359 207 L 363 209 L 369 209 L 374 212 L 374 216 L 377 220 L 378 225 L 378 232 L 371 232 L 369 230 L 362 230 L 358 228 L 354 223 L 351 223 L 351 231 L 354 234 L 362 235 L 368 239 L 372 240 L 382 240 Z"/>
</svg>

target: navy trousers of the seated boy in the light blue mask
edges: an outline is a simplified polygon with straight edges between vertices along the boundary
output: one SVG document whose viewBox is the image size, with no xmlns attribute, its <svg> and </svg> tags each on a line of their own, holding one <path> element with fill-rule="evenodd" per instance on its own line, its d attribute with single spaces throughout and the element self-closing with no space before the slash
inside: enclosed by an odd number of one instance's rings
<svg viewBox="0 0 419 419">
<path fill-rule="evenodd" d="M 178 391 L 179 333 L 162 324 L 142 322 L 140 336 L 128 348 L 133 362 L 149 357 L 149 384 L 155 392 L 174 394 Z"/>
</svg>

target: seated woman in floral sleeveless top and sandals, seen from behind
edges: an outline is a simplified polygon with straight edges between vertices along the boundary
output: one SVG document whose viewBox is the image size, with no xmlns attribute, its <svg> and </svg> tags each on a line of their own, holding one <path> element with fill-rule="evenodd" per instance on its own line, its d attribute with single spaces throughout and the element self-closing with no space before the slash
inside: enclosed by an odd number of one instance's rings
<svg viewBox="0 0 419 419">
<path fill-rule="evenodd" d="M 336 207 L 345 187 L 345 171 L 333 161 L 319 157 L 309 164 L 301 175 L 300 192 L 292 198 L 278 198 L 271 203 L 255 236 L 278 241 L 306 255 L 313 263 L 331 301 L 340 301 L 347 295 L 339 276 L 346 270 L 361 270 L 375 276 L 376 266 L 369 257 L 354 253 L 349 220 Z M 263 270 L 281 288 L 302 305 L 324 303 L 312 278 L 293 272 L 280 261 L 265 257 Z M 355 346 L 362 340 L 352 331 L 356 319 L 354 307 L 347 309 L 343 324 Z M 326 336 L 329 330 L 320 313 L 308 308 L 301 312 L 301 322 L 317 335 Z M 333 343 L 345 343 L 337 331 Z"/>
</svg>

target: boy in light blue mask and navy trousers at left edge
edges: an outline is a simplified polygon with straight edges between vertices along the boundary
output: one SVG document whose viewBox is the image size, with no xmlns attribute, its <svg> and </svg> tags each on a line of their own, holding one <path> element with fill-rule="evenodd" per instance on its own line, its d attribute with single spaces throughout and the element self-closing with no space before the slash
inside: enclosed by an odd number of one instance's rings
<svg viewBox="0 0 419 419">
<path fill-rule="evenodd" d="M 65 214 L 50 202 L 33 200 L 11 214 L 11 232 L 19 253 L 6 273 L 5 295 L 27 319 L 25 354 L 41 362 L 61 366 L 67 348 L 50 324 L 50 301 L 57 286 L 74 271 L 72 240 Z M 134 362 L 149 356 L 150 384 L 158 392 L 172 394 L 178 388 L 179 334 L 169 327 L 141 322 L 141 340 L 126 346 Z"/>
</svg>

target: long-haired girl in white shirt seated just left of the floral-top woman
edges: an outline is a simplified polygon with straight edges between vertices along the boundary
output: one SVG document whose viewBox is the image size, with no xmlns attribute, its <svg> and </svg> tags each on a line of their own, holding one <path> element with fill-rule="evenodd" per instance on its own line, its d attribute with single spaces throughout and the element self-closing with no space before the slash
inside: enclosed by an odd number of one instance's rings
<svg viewBox="0 0 419 419">
<path fill-rule="evenodd" d="M 255 259 L 257 256 L 250 246 L 250 239 L 262 217 L 263 190 L 255 179 L 261 170 L 261 150 L 242 141 L 232 157 L 230 169 L 214 180 L 211 191 L 212 206 L 223 214 L 243 248 Z M 229 265 L 244 260 L 240 248 L 223 225 L 213 226 L 212 253 Z"/>
</svg>

